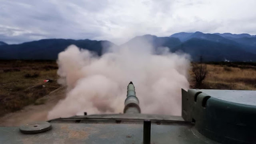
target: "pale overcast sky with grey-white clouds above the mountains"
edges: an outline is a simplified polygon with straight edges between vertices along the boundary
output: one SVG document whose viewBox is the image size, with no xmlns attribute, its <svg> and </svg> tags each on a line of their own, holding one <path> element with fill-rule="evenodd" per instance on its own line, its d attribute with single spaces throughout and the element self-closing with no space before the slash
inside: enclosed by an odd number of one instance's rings
<svg viewBox="0 0 256 144">
<path fill-rule="evenodd" d="M 0 0 L 0 41 L 110 40 L 176 32 L 256 34 L 256 0 Z"/>
</svg>

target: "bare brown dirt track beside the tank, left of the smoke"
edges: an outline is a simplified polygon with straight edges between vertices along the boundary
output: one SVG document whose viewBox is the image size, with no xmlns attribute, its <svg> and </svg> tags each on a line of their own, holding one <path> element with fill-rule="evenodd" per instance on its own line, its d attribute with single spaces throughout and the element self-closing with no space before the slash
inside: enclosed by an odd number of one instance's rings
<svg viewBox="0 0 256 144">
<path fill-rule="evenodd" d="M 65 96 L 66 88 L 60 87 L 43 97 L 46 99 L 45 104 L 32 104 L 24 107 L 22 110 L 4 115 L 0 118 L 0 126 L 20 126 L 28 122 L 46 121 L 48 112 Z"/>
</svg>

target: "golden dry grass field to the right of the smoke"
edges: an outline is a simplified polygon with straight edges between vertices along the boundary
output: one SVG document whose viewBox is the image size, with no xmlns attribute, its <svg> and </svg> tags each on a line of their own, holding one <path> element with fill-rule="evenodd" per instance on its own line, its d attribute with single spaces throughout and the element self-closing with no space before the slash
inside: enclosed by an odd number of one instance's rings
<svg viewBox="0 0 256 144">
<path fill-rule="evenodd" d="M 256 66 L 226 66 L 207 64 L 208 75 L 204 89 L 256 90 Z M 193 74 L 190 72 L 191 76 Z M 193 79 L 190 80 L 194 87 Z"/>
</svg>

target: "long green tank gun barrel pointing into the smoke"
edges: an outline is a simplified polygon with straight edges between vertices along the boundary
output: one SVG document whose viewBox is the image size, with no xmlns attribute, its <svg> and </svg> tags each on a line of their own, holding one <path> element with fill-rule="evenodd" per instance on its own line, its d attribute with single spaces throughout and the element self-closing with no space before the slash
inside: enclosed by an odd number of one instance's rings
<svg viewBox="0 0 256 144">
<path fill-rule="evenodd" d="M 127 98 L 124 101 L 124 114 L 140 113 L 139 100 L 136 97 L 135 87 L 132 82 L 127 86 Z"/>
</svg>

